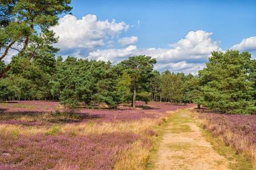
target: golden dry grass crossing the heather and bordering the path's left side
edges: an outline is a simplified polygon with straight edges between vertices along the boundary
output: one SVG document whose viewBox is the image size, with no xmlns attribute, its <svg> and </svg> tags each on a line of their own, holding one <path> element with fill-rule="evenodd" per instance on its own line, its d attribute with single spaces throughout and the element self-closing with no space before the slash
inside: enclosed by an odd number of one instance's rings
<svg viewBox="0 0 256 170">
<path fill-rule="evenodd" d="M 168 113 L 170 117 L 172 113 Z M 46 118 L 48 114 L 42 114 L 39 117 L 20 116 L 19 120 L 31 121 Z M 167 118 L 166 117 L 166 118 Z M 151 150 L 155 147 L 155 142 L 159 140 L 158 133 L 155 129 L 160 128 L 166 121 L 166 118 L 133 121 L 115 121 L 115 122 L 81 122 L 76 124 L 52 124 L 51 126 L 23 126 L 2 124 L 0 133 L 3 136 L 18 138 L 19 135 L 58 135 L 68 134 L 69 136 L 101 135 L 111 133 L 133 133 L 138 134 L 141 138 L 131 143 L 125 150 L 117 152 L 115 155 L 117 162 L 114 163 L 114 169 L 144 169 L 151 155 Z M 79 169 L 66 164 L 57 164 L 54 169 Z"/>
</svg>

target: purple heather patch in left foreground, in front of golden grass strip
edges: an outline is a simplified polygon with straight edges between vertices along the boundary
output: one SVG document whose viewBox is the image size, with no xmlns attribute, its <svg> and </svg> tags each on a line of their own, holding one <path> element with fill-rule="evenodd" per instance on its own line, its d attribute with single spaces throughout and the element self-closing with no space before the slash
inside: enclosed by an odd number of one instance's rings
<svg viewBox="0 0 256 170">
<path fill-rule="evenodd" d="M 131 133 L 0 136 L 0 169 L 51 169 L 63 164 L 67 168 L 112 169 L 117 152 L 139 138 Z"/>
</svg>

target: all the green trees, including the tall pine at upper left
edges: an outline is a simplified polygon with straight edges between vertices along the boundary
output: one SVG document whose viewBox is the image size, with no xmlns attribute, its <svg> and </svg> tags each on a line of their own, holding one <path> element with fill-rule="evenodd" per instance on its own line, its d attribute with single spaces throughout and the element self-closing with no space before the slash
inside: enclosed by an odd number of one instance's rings
<svg viewBox="0 0 256 170">
<path fill-rule="evenodd" d="M 156 59 L 111 62 L 55 57 L 51 27 L 70 0 L 0 1 L 0 100 L 59 100 L 69 108 L 135 100 L 196 103 L 223 113 L 255 113 L 256 62 L 248 52 L 212 52 L 198 75 L 154 70 Z M 3 62 L 16 51 L 11 62 Z"/>
</svg>

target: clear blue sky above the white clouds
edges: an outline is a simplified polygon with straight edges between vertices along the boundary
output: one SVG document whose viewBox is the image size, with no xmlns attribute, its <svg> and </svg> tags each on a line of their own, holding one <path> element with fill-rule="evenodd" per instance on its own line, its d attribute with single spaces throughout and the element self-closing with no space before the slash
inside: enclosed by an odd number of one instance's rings
<svg viewBox="0 0 256 170">
<path fill-rule="evenodd" d="M 138 36 L 139 47 L 166 48 L 189 31 L 213 32 L 213 40 L 228 49 L 256 35 L 256 1 L 72 1 L 72 14 L 95 14 L 99 20 L 115 19 L 141 27 L 126 36 Z"/>
</svg>

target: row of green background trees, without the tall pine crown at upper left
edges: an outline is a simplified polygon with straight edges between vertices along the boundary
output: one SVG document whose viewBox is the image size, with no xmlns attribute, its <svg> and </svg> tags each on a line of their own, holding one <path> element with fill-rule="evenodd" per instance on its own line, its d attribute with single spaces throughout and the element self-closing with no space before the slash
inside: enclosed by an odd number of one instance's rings
<svg viewBox="0 0 256 170">
<path fill-rule="evenodd" d="M 0 79 L 1 100 L 60 100 L 67 107 L 135 100 L 196 103 L 223 113 L 255 113 L 256 62 L 248 52 L 213 52 L 198 75 L 153 70 L 156 60 L 131 56 L 111 62 L 61 56 L 55 59 L 13 57 Z M 0 70 L 6 67 L 1 62 Z"/>
</svg>

